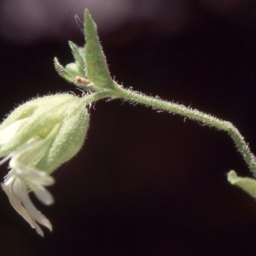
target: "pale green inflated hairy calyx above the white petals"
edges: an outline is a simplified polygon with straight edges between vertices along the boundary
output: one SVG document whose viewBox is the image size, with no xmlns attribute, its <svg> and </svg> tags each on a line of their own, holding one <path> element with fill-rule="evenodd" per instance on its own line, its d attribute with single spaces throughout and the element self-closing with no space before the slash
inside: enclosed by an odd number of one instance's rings
<svg viewBox="0 0 256 256">
<path fill-rule="evenodd" d="M 19 154 L 26 166 L 50 173 L 78 153 L 88 127 L 89 114 L 77 96 L 37 98 L 0 125 L 0 156 Z"/>
</svg>

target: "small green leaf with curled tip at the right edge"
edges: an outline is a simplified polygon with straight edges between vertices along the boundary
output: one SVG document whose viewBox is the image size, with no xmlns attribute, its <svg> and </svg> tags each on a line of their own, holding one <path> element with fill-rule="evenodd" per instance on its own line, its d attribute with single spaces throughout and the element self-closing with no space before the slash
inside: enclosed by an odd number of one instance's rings
<svg viewBox="0 0 256 256">
<path fill-rule="evenodd" d="M 236 185 L 239 188 L 245 190 L 249 195 L 256 198 L 256 180 L 251 177 L 238 177 L 236 172 L 230 171 L 228 173 L 228 181 L 232 185 Z"/>
</svg>

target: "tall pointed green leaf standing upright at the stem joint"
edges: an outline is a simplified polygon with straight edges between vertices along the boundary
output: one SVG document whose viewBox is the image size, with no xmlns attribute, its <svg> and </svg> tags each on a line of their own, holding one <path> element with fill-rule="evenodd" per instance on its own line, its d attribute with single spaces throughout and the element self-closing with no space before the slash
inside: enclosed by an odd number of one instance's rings
<svg viewBox="0 0 256 256">
<path fill-rule="evenodd" d="M 96 23 L 88 9 L 84 12 L 85 61 L 89 79 L 100 88 L 113 88 L 105 55 L 96 32 Z"/>
</svg>

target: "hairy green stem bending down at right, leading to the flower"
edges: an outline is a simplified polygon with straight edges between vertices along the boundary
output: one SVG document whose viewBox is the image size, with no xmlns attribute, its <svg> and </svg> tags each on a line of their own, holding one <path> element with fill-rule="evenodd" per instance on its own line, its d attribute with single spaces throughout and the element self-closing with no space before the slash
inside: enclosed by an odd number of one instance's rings
<svg viewBox="0 0 256 256">
<path fill-rule="evenodd" d="M 143 105 L 153 107 L 157 110 L 165 110 L 169 113 L 178 113 L 189 119 L 197 120 L 202 124 L 214 126 L 219 130 L 227 131 L 230 137 L 236 143 L 236 147 L 240 151 L 242 157 L 247 162 L 250 171 L 253 172 L 253 175 L 256 177 L 255 156 L 251 152 L 247 143 L 245 143 L 244 138 L 241 136 L 240 132 L 230 122 L 218 119 L 210 114 L 203 113 L 197 109 L 185 107 L 177 103 L 166 102 L 159 98 L 154 98 L 151 96 L 144 96 L 141 93 L 137 93 L 132 90 L 125 90 L 121 87 L 115 87 L 115 90 L 105 90 L 92 93 L 88 96 L 84 96 L 84 98 L 82 98 L 82 101 L 84 102 L 84 104 L 88 104 L 88 102 L 95 102 L 105 97 L 121 98 L 125 101 L 141 103 Z"/>
</svg>

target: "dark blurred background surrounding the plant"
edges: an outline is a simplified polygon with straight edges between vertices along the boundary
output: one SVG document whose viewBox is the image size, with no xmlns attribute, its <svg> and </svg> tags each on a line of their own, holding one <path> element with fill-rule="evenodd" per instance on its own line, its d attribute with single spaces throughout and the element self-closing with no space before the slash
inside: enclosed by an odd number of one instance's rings
<svg viewBox="0 0 256 256">
<path fill-rule="evenodd" d="M 81 95 L 53 58 L 84 44 L 84 8 L 119 84 L 229 120 L 256 152 L 254 0 L 1 0 L 1 118 L 35 96 Z M 52 233 L 0 193 L 1 255 L 255 255 L 256 201 L 227 182 L 232 169 L 251 175 L 224 131 L 96 102 L 84 148 L 54 174 L 55 205 L 35 201 Z"/>
</svg>

